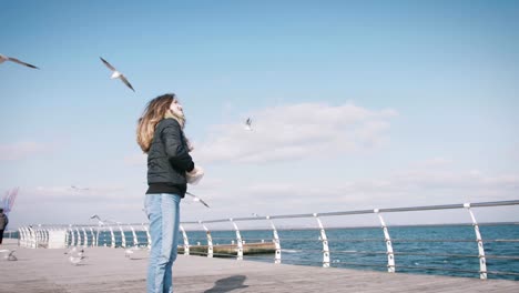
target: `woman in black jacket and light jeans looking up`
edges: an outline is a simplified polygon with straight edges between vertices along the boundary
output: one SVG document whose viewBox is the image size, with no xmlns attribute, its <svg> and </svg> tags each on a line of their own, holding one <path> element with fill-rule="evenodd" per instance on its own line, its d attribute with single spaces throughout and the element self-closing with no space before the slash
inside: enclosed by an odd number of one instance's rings
<svg viewBox="0 0 519 293">
<path fill-rule="evenodd" d="M 150 220 L 151 252 L 147 292 L 173 292 L 172 265 L 179 242 L 180 201 L 186 173 L 196 173 L 184 137 L 185 118 L 175 94 L 151 100 L 138 124 L 138 143 L 147 153 L 144 208 Z"/>
</svg>

